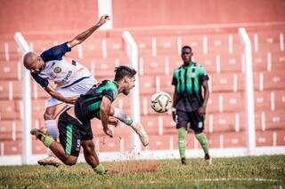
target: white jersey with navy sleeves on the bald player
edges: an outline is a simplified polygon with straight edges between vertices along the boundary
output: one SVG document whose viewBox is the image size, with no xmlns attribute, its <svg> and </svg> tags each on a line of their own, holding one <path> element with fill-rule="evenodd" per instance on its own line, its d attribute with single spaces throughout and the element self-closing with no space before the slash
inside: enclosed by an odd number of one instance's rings
<svg viewBox="0 0 285 189">
<path fill-rule="evenodd" d="M 45 62 L 45 67 L 40 73 L 32 74 L 37 83 L 46 88 L 52 81 L 57 85 L 56 88 L 62 89 L 92 76 L 92 73 L 77 61 L 72 60 L 70 63 L 68 60 L 62 59 L 62 56 L 68 51 L 71 51 L 68 43 L 62 43 L 40 55 Z"/>
</svg>

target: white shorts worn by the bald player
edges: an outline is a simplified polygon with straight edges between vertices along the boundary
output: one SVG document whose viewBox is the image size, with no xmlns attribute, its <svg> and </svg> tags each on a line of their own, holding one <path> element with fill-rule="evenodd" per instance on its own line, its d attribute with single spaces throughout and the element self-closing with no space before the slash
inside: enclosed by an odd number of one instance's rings
<svg viewBox="0 0 285 189">
<path fill-rule="evenodd" d="M 89 91 L 94 84 L 96 84 L 97 81 L 94 79 L 93 76 L 89 78 L 85 78 L 84 80 L 75 83 L 67 88 L 55 88 L 55 91 L 58 91 L 63 95 L 64 97 L 73 97 L 73 96 L 79 96 L 81 94 L 85 94 L 87 91 Z M 55 106 L 61 104 L 61 100 L 58 100 L 56 98 L 50 97 L 47 99 L 45 103 L 45 107 Z"/>
</svg>

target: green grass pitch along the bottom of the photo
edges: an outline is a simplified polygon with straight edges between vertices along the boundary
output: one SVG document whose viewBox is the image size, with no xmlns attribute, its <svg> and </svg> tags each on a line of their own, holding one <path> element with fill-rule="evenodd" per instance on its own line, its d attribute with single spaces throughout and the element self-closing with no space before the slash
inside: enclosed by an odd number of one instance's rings
<svg viewBox="0 0 285 189">
<path fill-rule="evenodd" d="M 103 163 L 116 174 L 73 167 L 2 166 L 0 188 L 285 188 L 285 155 Z"/>
</svg>

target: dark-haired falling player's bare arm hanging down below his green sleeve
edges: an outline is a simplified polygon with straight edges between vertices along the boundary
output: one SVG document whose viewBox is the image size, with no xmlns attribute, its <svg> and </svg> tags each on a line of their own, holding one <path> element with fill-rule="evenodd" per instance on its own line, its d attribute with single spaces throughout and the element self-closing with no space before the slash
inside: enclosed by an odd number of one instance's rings
<svg viewBox="0 0 285 189">
<path fill-rule="evenodd" d="M 103 96 L 101 106 L 100 106 L 100 117 L 101 117 L 102 127 L 103 127 L 105 134 L 110 136 L 110 138 L 112 138 L 113 132 L 108 127 L 110 106 L 111 106 L 110 99 Z"/>
</svg>

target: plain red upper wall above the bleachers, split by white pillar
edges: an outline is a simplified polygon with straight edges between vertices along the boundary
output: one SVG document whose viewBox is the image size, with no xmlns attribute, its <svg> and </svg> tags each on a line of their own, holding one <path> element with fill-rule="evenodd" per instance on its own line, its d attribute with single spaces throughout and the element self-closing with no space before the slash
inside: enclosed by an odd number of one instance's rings
<svg viewBox="0 0 285 189">
<path fill-rule="evenodd" d="M 285 21 L 284 0 L 112 0 L 115 28 Z M 2 0 L 0 34 L 85 29 L 97 0 Z"/>
</svg>

